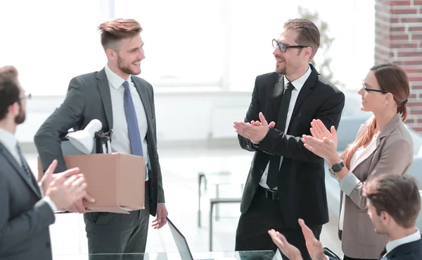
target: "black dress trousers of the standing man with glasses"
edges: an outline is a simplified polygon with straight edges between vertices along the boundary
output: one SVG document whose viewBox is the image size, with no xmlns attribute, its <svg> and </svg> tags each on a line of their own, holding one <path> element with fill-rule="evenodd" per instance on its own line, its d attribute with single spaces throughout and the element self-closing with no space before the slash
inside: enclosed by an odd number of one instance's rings
<svg viewBox="0 0 422 260">
<path fill-rule="evenodd" d="M 274 229 L 283 234 L 290 244 L 298 247 L 304 260 L 311 260 L 307 252 L 305 237 L 302 229 L 286 228 L 283 221 L 283 210 L 278 199 L 267 198 L 265 189 L 258 185 L 255 197 L 246 213 L 239 218 L 236 230 L 236 251 L 273 250 L 277 249 L 276 244 L 271 240 L 268 230 Z M 319 240 L 322 225 L 311 225 L 309 228 Z M 283 259 L 288 259 L 286 256 Z"/>
</svg>

